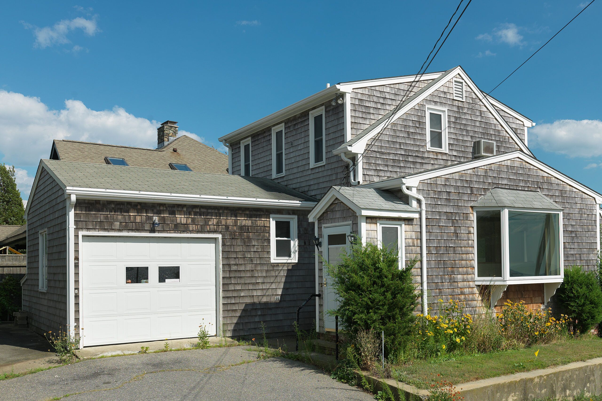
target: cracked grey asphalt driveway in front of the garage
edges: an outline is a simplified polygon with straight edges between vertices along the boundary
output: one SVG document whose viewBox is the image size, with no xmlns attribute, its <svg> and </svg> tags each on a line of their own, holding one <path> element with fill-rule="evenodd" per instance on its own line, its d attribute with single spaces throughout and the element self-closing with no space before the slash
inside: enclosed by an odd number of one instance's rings
<svg viewBox="0 0 602 401">
<path fill-rule="evenodd" d="M 86 360 L 0 381 L 2 400 L 373 400 L 321 370 L 248 347 Z"/>
</svg>

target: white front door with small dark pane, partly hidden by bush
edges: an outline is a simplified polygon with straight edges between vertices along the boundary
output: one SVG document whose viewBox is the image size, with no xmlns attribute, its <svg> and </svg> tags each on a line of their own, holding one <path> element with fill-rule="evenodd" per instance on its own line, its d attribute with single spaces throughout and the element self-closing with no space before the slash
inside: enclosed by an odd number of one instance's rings
<svg viewBox="0 0 602 401">
<path fill-rule="evenodd" d="M 350 232 L 350 227 L 344 225 L 341 227 L 324 228 L 324 259 L 330 265 L 336 266 L 341 262 L 341 254 L 347 251 L 349 244 L 347 243 L 347 234 Z M 337 293 L 332 287 L 332 278 L 328 274 L 327 269 L 322 269 L 324 277 L 324 328 L 329 331 L 335 329 L 335 317 L 326 313 L 329 310 L 334 310 L 338 307 Z"/>
</svg>

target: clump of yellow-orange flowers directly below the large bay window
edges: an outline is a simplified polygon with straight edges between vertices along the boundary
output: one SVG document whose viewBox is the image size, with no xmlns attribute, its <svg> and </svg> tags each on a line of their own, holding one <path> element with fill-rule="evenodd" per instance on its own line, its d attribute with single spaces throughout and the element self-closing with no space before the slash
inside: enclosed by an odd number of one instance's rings
<svg viewBox="0 0 602 401">
<path fill-rule="evenodd" d="M 551 309 L 530 310 L 524 301 L 504 302 L 501 313 L 496 314 L 499 331 L 508 340 L 527 346 L 535 343 L 547 343 L 566 329 L 566 316 L 557 320 Z"/>
</svg>

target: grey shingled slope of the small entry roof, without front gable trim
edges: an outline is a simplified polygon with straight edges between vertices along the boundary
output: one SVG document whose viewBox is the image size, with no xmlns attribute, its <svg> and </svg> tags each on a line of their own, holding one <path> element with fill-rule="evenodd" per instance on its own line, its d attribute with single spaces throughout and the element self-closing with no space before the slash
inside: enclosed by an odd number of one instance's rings
<svg viewBox="0 0 602 401">
<path fill-rule="evenodd" d="M 418 212 L 418 209 L 409 206 L 393 193 L 384 189 L 359 188 L 357 186 L 333 186 L 332 188 L 361 209 Z"/>
</svg>

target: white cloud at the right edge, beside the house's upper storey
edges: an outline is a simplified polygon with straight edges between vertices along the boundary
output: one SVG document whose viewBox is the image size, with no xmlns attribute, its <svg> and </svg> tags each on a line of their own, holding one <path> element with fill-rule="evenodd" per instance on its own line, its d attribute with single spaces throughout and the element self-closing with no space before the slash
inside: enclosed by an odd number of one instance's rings
<svg viewBox="0 0 602 401">
<path fill-rule="evenodd" d="M 557 120 L 538 124 L 529 129 L 529 145 L 571 158 L 602 156 L 602 121 Z"/>
</svg>

